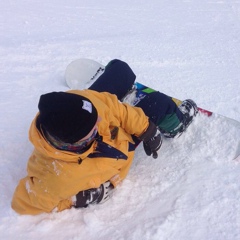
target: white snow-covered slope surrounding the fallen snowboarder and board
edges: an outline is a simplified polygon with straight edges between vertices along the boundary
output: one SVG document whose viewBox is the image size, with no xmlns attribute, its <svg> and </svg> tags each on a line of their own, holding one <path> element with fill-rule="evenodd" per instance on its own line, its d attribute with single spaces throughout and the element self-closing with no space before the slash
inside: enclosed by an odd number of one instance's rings
<svg viewBox="0 0 240 240">
<path fill-rule="evenodd" d="M 124 60 L 138 81 L 240 121 L 239 0 L 9 0 L 0 12 L 1 239 L 240 239 L 240 129 L 220 118 L 199 116 L 158 159 L 140 146 L 105 204 L 38 216 L 10 207 L 39 96 L 67 90 L 77 58 Z"/>
</svg>

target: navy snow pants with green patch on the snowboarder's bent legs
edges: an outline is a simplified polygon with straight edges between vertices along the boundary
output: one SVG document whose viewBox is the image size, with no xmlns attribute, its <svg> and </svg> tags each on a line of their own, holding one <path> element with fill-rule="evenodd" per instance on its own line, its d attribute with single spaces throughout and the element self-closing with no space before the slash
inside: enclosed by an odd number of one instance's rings
<svg viewBox="0 0 240 240">
<path fill-rule="evenodd" d="M 109 92 L 117 95 L 119 100 L 132 89 L 135 74 L 127 63 L 114 59 L 108 63 L 104 73 L 89 87 L 98 92 Z M 152 92 L 143 98 L 136 107 L 142 108 L 149 119 L 159 126 L 160 131 L 177 131 L 183 120 L 183 114 L 171 97 Z"/>
</svg>

